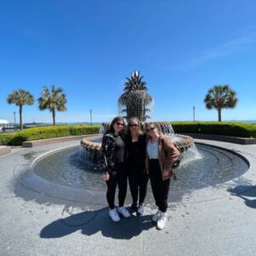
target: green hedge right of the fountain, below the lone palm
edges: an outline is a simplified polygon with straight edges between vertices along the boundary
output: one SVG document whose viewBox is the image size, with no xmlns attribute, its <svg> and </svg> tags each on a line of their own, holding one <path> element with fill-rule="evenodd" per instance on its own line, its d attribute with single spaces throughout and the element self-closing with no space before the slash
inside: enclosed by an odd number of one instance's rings
<svg viewBox="0 0 256 256">
<path fill-rule="evenodd" d="M 234 137 L 256 137 L 256 125 L 233 122 L 172 122 L 175 133 L 218 134 Z"/>
</svg>

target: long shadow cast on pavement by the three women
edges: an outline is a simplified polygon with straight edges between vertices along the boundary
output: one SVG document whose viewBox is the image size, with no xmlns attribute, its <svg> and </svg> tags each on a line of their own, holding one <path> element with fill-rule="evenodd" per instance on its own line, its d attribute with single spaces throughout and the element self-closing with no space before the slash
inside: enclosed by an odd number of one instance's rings
<svg viewBox="0 0 256 256">
<path fill-rule="evenodd" d="M 77 230 L 86 236 L 91 236 L 97 232 L 102 232 L 102 236 L 114 239 L 131 239 L 138 236 L 143 230 L 154 227 L 151 221 L 152 215 L 137 217 L 131 215 L 130 218 L 121 218 L 118 223 L 114 223 L 108 217 L 108 207 L 100 210 L 80 212 L 60 218 L 48 224 L 40 232 L 41 238 L 58 238 L 68 236 Z"/>
</svg>

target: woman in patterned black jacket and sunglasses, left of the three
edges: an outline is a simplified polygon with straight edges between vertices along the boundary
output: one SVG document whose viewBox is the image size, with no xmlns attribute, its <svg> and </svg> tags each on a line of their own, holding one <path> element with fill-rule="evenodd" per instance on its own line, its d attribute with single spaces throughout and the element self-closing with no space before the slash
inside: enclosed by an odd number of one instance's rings
<svg viewBox="0 0 256 256">
<path fill-rule="evenodd" d="M 128 218 L 130 212 L 124 207 L 127 191 L 127 172 L 125 168 L 125 122 L 122 117 L 115 117 L 110 128 L 102 137 L 103 156 L 103 179 L 106 181 L 107 201 L 109 206 L 109 217 L 114 222 L 120 220 L 119 214 Z M 119 207 L 114 207 L 114 195 L 117 185 L 119 186 Z"/>
</svg>

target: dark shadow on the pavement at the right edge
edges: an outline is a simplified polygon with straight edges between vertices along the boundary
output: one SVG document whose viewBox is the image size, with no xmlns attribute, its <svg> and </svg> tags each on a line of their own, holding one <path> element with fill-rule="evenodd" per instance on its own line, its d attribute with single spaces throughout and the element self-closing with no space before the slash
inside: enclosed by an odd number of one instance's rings
<svg viewBox="0 0 256 256">
<path fill-rule="evenodd" d="M 234 189 L 228 189 L 231 195 L 236 195 L 244 200 L 247 207 L 256 208 L 256 186 L 236 186 Z M 255 197 L 248 199 L 247 197 Z"/>
</svg>

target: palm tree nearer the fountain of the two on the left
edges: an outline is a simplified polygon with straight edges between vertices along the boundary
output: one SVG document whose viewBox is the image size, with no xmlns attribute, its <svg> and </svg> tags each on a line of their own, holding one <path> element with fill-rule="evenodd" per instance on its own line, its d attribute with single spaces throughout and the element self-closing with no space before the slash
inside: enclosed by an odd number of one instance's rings
<svg viewBox="0 0 256 256">
<path fill-rule="evenodd" d="M 65 104 L 67 103 L 66 94 L 63 93 L 63 90 L 59 87 L 55 89 L 55 85 L 51 85 L 50 91 L 44 86 L 41 97 L 38 98 L 39 109 L 49 109 L 52 113 L 53 125 L 55 125 L 55 112 L 57 111 L 66 111 L 67 108 Z"/>
</svg>

